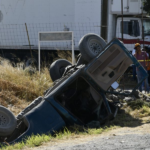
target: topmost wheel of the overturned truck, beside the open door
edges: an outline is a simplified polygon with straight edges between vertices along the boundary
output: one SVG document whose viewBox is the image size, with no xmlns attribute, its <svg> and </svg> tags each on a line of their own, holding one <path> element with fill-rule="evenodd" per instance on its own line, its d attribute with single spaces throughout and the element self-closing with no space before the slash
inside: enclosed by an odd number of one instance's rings
<svg viewBox="0 0 150 150">
<path fill-rule="evenodd" d="M 79 41 L 79 50 L 87 62 L 95 58 L 105 46 L 104 39 L 96 34 L 87 34 Z"/>
</svg>

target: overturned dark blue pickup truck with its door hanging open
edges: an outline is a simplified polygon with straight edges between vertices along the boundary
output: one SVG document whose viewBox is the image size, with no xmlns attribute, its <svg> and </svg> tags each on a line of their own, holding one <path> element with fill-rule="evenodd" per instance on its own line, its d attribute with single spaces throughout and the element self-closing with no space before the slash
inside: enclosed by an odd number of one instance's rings
<svg viewBox="0 0 150 150">
<path fill-rule="evenodd" d="M 53 86 L 17 117 L 0 107 L 1 143 L 13 144 L 32 134 L 53 134 L 74 124 L 88 126 L 93 121 L 103 124 L 112 120 L 118 108 L 107 100 L 106 93 L 132 95 L 148 76 L 118 39 L 106 45 L 98 35 L 88 34 L 80 40 L 79 49 L 81 55 L 76 65 L 66 60 L 57 60 L 51 65 Z M 131 64 L 139 68 L 143 80 L 131 93 L 111 90 Z"/>
</svg>

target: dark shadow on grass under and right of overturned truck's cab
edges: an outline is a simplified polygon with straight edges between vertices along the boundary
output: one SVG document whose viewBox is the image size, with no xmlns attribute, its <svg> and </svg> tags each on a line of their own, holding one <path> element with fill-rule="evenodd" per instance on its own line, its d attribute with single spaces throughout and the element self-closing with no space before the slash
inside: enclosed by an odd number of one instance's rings
<svg viewBox="0 0 150 150">
<path fill-rule="evenodd" d="M 144 102 L 143 100 L 136 100 L 132 102 L 128 102 L 126 107 L 121 108 L 118 110 L 117 116 L 111 120 L 111 121 L 106 121 L 105 123 L 101 124 L 100 127 L 83 127 L 83 126 L 71 126 L 67 127 L 70 133 L 79 133 L 79 132 L 87 132 L 90 129 L 108 129 L 112 127 L 137 127 L 141 126 L 145 123 L 143 123 L 142 117 L 138 118 L 135 117 L 134 115 L 131 115 L 130 113 L 134 112 L 137 109 L 143 108 L 143 106 L 146 106 L 149 111 L 150 111 L 150 103 Z M 130 109 L 128 112 L 127 109 Z M 145 113 L 145 112 L 144 112 Z M 150 120 L 147 120 L 146 123 L 150 123 Z"/>
</svg>

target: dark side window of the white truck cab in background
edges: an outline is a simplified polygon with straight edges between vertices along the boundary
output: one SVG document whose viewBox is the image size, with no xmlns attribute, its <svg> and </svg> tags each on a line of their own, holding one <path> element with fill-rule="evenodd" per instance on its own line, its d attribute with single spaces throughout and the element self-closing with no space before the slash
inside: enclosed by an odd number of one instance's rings
<svg viewBox="0 0 150 150">
<path fill-rule="evenodd" d="M 120 23 L 120 29 L 122 33 L 122 21 Z M 140 27 L 137 20 L 123 21 L 123 34 L 128 34 L 130 36 L 140 36 Z"/>
</svg>

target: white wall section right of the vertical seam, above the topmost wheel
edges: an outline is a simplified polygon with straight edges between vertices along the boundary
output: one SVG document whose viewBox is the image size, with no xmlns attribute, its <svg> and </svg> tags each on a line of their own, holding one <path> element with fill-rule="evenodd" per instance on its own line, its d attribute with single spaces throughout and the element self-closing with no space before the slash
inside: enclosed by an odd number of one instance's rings
<svg viewBox="0 0 150 150">
<path fill-rule="evenodd" d="M 80 38 L 87 33 L 100 35 L 101 29 L 101 0 L 74 0 L 75 18 L 74 30 L 78 45 Z"/>
</svg>

